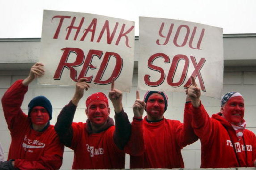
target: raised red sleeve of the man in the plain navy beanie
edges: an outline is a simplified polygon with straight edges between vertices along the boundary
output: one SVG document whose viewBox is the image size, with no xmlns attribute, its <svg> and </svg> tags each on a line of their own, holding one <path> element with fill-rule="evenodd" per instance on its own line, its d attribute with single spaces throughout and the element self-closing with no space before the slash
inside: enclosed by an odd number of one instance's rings
<svg viewBox="0 0 256 170">
<path fill-rule="evenodd" d="M 17 80 L 2 97 L 4 117 L 11 133 L 17 127 L 14 125 L 22 123 L 26 118 L 26 114 L 21 110 L 21 105 L 24 95 L 28 91 L 28 86 L 24 86 L 22 81 Z"/>
</svg>

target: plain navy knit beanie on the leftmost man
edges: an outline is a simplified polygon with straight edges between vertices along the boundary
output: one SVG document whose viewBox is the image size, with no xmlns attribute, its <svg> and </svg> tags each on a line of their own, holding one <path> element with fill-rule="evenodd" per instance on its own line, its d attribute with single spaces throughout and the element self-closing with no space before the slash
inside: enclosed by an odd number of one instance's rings
<svg viewBox="0 0 256 170">
<path fill-rule="evenodd" d="M 36 106 L 42 106 L 44 107 L 48 114 L 49 114 L 49 120 L 52 119 L 52 104 L 51 102 L 44 96 L 37 96 L 34 97 L 28 104 L 28 117 L 30 117 L 31 110 Z"/>
</svg>

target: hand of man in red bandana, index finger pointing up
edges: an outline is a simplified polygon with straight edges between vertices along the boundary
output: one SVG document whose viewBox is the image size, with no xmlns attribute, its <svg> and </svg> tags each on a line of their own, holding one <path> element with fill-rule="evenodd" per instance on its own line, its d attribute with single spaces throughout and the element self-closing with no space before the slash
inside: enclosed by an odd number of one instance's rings
<svg viewBox="0 0 256 170">
<path fill-rule="evenodd" d="M 115 89 L 114 86 L 115 86 L 115 78 L 112 78 L 111 89 L 108 93 L 108 97 L 114 106 L 115 112 L 120 113 L 123 110 L 123 104 L 122 104 L 123 92 L 118 89 Z"/>
</svg>

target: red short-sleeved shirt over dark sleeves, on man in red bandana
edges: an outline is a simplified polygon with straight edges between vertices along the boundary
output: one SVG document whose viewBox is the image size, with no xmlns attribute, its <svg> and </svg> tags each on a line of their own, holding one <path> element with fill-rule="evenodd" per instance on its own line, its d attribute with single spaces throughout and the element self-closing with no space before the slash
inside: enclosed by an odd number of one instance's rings
<svg viewBox="0 0 256 170">
<path fill-rule="evenodd" d="M 125 154 L 113 140 L 115 126 L 100 133 L 87 133 L 86 123 L 72 123 L 74 150 L 72 169 L 121 169 L 124 168 Z"/>
</svg>

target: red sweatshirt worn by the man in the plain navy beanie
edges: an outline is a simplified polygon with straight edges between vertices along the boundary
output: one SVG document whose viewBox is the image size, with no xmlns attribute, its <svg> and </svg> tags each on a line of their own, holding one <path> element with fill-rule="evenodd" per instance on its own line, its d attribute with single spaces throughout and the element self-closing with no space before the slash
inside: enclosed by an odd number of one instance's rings
<svg viewBox="0 0 256 170">
<path fill-rule="evenodd" d="M 20 170 L 59 169 L 64 145 L 60 144 L 54 126 L 49 125 L 42 132 L 32 129 L 32 122 L 20 108 L 27 91 L 28 86 L 18 80 L 2 98 L 4 116 L 12 138 L 8 160 L 15 159 L 15 167 Z"/>
</svg>

